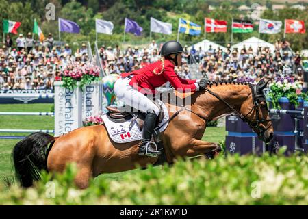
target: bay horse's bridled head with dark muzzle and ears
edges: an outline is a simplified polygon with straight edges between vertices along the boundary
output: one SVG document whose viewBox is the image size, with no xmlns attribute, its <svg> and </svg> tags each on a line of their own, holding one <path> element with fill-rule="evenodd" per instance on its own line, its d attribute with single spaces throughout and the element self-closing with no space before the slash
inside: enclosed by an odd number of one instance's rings
<svg viewBox="0 0 308 219">
<path fill-rule="evenodd" d="M 245 115 L 244 120 L 257 133 L 258 138 L 266 143 L 270 142 L 274 134 L 263 92 L 267 84 L 268 81 L 264 82 L 263 79 L 257 85 L 250 84 L 251 96 L 241 109 L 242 114 Z"/>
</svg>

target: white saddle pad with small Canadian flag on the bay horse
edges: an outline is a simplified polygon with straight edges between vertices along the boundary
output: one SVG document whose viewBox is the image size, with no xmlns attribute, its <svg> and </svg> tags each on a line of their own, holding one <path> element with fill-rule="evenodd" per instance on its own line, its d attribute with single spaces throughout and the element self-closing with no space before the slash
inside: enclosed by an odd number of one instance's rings
<svg viewBox="0 0 308 219">
<path fill-rule="evenodd" d="M 159 104 L 162 104 L 162 109 L 164 112 L 164 118 L 162 120 L 162 123 L 164 124 L 162 127 L 160 127 L 159 131 L 164 131 L 166 127 L 168 126 L 168 119 L 169 114 L 166 105 L 162 103 L 162 101 L 158 100 Z M 105 127 L 108 131 L 108 134 L 110 138 L 116 142 L 116 143 L 127 143 L 127 142 L 133 142 L 137 140 L 141 140 L 142 138 L 142 131 L 140 131 L 137 123 L 131 118 L 130 120 L 127 120 L 123 123 L 115 123 L 112 120 L 108 118 L 106 114 L 103 114 L 101 116 L 105 123 Z"/>
</svg>

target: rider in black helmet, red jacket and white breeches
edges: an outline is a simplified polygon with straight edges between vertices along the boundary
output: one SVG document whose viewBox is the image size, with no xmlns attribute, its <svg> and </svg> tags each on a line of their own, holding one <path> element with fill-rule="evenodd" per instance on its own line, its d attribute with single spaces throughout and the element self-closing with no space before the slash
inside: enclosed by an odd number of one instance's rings
<svg viewBox="0 0 308 219">
<path fill-rule="evenodd" d="M 155 94 L 155 88 L 169 81 L 179 92 L 205 90 L 204 79 L 201 81 L 182 79 L 175 73 L 175 66 L 181 66 L 182 53 L 183 47 L 179 42 L 168 41 L 160 51 L 161 60 L 131 73 L 123 73 L 114 84 L 114 94 L 120 101 L 146 113 L 138 155 L 155 157 L 161 154 L 151 146 L 151 134 L 159 115 L 159 108 L 149 99 Z"/>
</svg>

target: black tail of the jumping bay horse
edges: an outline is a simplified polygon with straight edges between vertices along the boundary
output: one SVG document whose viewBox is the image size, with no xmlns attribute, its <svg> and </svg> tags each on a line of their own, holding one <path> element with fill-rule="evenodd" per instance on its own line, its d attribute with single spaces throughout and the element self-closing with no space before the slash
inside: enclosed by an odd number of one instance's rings
<svg viewBox="0 0 308 219">
<path fill-rule="evenodd" d="M 18 142 L 13 149 L 12 159 L 16 179 L 23 187 L 30 187 L 40 179 L 40 171 L 47 170 L 47 156 L 55 137 L 35 132 Z"/>
</svg>

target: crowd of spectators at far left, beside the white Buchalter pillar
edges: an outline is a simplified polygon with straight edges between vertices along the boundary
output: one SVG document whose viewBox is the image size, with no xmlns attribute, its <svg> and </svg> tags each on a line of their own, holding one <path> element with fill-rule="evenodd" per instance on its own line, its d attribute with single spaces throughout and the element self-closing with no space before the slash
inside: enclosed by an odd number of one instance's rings
<svg viewBox="0 0 308 219">
<path fill-rule="evenodd" d="M 19 34 L 12 40 L 8 34 L 0 48 L 0 89 L 53 89 L 53 81 L 60 81 L 66 65 L 88 62 L 86 44 L 75 52 L 69 44 L 64 47 L 53 40 L 51 33 L 43 41 L 32 34 Z"/>
</svg>

